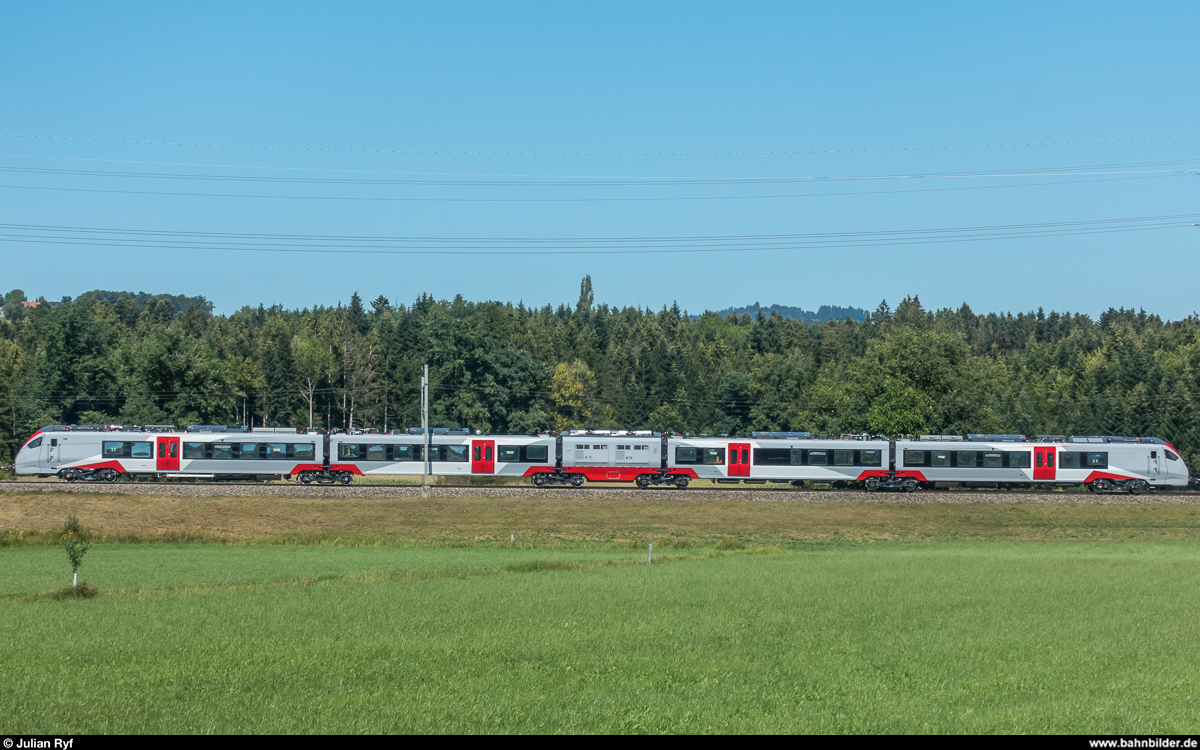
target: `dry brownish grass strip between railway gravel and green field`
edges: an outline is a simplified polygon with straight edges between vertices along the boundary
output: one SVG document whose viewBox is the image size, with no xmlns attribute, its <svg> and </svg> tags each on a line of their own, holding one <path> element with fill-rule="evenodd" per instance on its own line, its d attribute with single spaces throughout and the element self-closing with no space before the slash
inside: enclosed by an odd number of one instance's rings
<svg viewBox="0 0 1200 750">
<path fill-rule="evenodd" d="M 76 514 L 97 541 L 611 546 L 739 540 L 1200 541 L 1200 505 L 1086 503 L 748 503 L 538 498 L 172 498 L 0 494 L 0 545 L 53 544 Z"/>
</svg>

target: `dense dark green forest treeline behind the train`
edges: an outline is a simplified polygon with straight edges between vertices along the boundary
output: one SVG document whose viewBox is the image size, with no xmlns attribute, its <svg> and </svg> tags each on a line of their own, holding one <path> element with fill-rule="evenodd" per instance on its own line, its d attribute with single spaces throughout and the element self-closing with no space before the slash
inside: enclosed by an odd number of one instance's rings
<svg viewBox="0 0 1200 750">
<path fill-rule="evenodd" d="M 862 322 L 595 305 L 365 305 L 212 316 L 179 298 L 6 307 L 0 452 L 46 424 L 484 432 L 1157 436 L 1200 466 L 1200 318 L 974 314 L 908 298 Z"/>
</svg>

